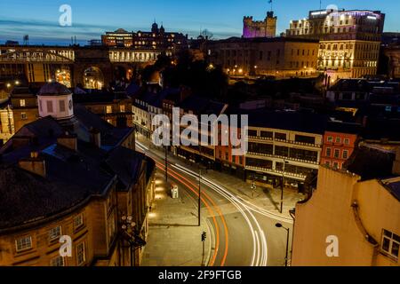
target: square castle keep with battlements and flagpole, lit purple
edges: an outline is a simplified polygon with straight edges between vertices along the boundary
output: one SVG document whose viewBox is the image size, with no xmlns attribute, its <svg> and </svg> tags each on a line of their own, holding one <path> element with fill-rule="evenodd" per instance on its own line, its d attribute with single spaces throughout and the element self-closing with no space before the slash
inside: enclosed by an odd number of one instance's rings
<svg viewBox="0 0 400 284">
<path fill-rule="evenodd" d="M 243 37 L 275 37 L 276 36 L 276 20 L 274 12 L 267 12 L 265 20 L 252 20 L 252 17 L 244 17 L 243 20 Z"/>
</svg>

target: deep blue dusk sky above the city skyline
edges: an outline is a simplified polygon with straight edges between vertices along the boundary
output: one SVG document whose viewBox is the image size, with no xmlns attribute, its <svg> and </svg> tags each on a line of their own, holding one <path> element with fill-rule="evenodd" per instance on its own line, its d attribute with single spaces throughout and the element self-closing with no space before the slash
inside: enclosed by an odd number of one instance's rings
<svg viewBox="0 0 400 284">
<path fill-rule="evenodd" d="M 73 27 L 59 26 L 61 4 L 72 7 Z M 387 14 L 385 30 L 400 30 L 398 0 L 322 1 L 323 8 L 328 4 L 380 10 Z M 71 36 L 86 43 L 100 39 L 106 30 L 148 30 L 154 20 L 163 22 L 167 31 L 189 36 L 197 36 L 201 28 L 210 30 L 215 38 L 241 36 L 244 15 L 262 20 L 269 9 L 268 0 L 1 0 L 0 43 L 21 42 L 24 35 L 29 35 L 30 43 L 68 44 Z M 319 0 L 275 0 L 277 33 L 288 28 L 290 20 L 305 18 L 309 10 L 316 9 Z"/>
</svg>

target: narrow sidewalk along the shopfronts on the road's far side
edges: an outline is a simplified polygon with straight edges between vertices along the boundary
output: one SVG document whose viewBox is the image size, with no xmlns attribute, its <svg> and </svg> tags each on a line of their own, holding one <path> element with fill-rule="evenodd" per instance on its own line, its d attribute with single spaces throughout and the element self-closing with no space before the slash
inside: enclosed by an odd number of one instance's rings
<svg viewBox="0 0 400 284">
<path fill-rule="evenodd" d="M 145 138 L 138 138 L 138 141 L 146 146 L 150 146 L 150 141 Z M 158 154 L 163 155 L 161 152 Z M 180 157 L 173 156 L 172 154 L 168 155 L 168 159 L 170 162 L 178 163 L 180 165 L 184 165 L 189 170 L 197 171 L 196 165 L 192 162 L 188 162 Z M 261 187 L 257 186 L 254 190 L 254 198 L 252 198 L 252 189 L 251 185 L 244 182 L 243 179 L 237 178 L 232 175 L 228 175 L 226 173 L 216 171 L 216 170 L 207 170 L 207 173 L 203 174 L 204 177 L 208 177 L 212 179 L 219 185 L 227 188 L 231 193 L 235 194 L 238 197 L 243 198 L 245 201 L 249 201 L 255 206 L 258 206 L 262 209 L 268 210 L 274 214 L 280 214 L 280 202 L 281 202 L 281 189 L 280 188 L 272 188 L 272 186 Z M 298 201 L 301 201 L 305 198 L 304 194 L 297 193 L 297 191 L 292 189 L 284 190 L 284 213 L 281 215 L 282 217 L 290 217 L 289 210 L 293 209 L 296 206 Z M 292 218 L 292 217 L 290 217 Z"/>
</svg>

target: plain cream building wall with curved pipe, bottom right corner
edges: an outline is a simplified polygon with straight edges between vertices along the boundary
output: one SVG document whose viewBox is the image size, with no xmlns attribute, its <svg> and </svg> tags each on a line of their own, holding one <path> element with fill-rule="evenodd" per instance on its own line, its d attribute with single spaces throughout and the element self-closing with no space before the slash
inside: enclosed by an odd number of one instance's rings
<svg viewBox="0 0 400 284">
<path fill-rule="evenodd" d="M 362 151 L 372 171 L 361 163 L 347 170 L 321 166 L 316 192 L 297 204 L 293 266 L 400 265 L 400 151 L 396 161 L 388 150 L 383 160 L 377 150 Z"/>
</svg>

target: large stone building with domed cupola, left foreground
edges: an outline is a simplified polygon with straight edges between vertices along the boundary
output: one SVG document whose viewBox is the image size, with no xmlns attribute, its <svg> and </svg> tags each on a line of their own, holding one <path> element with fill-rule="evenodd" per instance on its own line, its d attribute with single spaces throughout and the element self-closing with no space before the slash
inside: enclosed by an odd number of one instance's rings
<svg viewBox="0 0 400 284">
<path fill-rule="evenodd" d="M 134 151 L 134 130 L 74 106 L 59 83 L 44 85 L 38 107 L 0 150 L 0 265 L 140 265 L 155 163 Z"/>
</svg>

